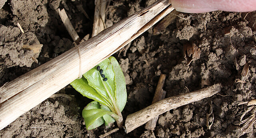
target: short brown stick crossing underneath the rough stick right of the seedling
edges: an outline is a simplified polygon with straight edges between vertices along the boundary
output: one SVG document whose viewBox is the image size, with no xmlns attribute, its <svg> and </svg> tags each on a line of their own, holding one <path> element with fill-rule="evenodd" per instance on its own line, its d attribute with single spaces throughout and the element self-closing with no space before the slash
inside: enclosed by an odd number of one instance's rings
<svg viewBox="0 0 256 138">
<path fill-rule="evenodd" d="M 162 90 L 163 86 L 164 86 L 164 80 L 166 78 L 166 74 L 161 74 L 159 80 L 158 80 L 158 84 L 156 86 L 156 92 L 152 101 L 152 104 L 164 99 L 165 95 L 166 95 L 166 91 Z M 150 121 L 148 121 L 145 125 L 145 128 L 148 130 L 154 130 L 156 127 L 156 122 L 158 120 L 158 116 L 152 118 Z"/>
</svg>

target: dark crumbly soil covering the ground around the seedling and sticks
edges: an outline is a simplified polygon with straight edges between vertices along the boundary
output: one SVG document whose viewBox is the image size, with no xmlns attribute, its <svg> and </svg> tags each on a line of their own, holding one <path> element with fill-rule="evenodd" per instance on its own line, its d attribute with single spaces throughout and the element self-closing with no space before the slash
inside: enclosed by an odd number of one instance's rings
<svg viewBox="0 0 256 138">
<path fill-rule="evenodd" d="M 152 4 L 155 0 L 108 2 L 106 27 Z M 74 47 L 58 15 L 64 8 L 76 32 L 92 33 L 93 0 L 1 0 L 0 86 Z M 79 10 L 82 6 L 89 18 Z M 1 5 L 0 5 L 1 7 Z M 170 13 L 169 26 L 159 22 L 113 56 L 124 72 L 127 104 L 124 120 L 151 104 L 161 74 L 166 74 L 166 98 L 190 93 L 216 83 L 222 90 L 210 98 L 175 108 L 159 116 L 154 131 L 144 126 L 107 138 L 254 138 L 256 124 L 242 132 L 240 117 L 248 109 L 241 102 L 255 99 L 256 12 L 214 11 Z M 17 26 L 19 23 L 24 34 Z M 24 44 L 43 44 L 40 53 Z M 195 48 L 199 55 L 191 55 Z M 184 57 L 186 55 L 186 58 Z M 190 62 L 191 61 L 191 62 Z M 247 67 L 246 67 L 247 66 Z M 43 92 L 43 91 L 42 91 Z M 82 109 L 91 102 L 68 85 L 0 130 L 1 138 L 95 138 L 114 128 L 86 130 Z M 212 103 L 212 104 L 211 104 Z M 214 118 L 206 114 L 210 104 Z M 248 118 L 255 109 L 246 114 Z"/>
</svg>

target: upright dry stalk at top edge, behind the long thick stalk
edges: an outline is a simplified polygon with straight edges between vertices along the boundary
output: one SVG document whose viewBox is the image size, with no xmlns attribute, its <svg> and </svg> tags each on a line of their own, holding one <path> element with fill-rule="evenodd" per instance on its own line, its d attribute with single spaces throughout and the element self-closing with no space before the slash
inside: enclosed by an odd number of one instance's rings
<svg viewBox="0 0 256 138">
<path fill-rule="evenodd" d="M 94 20 L 92 28 L 92 37 L 96 36 L 105 26 L 106 0 L 95 0 Z"/>
</svg>

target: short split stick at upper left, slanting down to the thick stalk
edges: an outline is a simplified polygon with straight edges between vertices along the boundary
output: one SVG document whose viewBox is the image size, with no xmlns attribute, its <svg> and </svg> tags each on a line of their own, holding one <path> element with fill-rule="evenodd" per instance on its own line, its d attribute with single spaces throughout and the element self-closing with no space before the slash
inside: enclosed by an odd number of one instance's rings
<svg viewBox="0 0 256 138">
<path fill-rule="evenodd" d="M 58 12 L 60 14 L 60 18 L 65 28 L 68 30 L 68 34 L 71 36 L 72 40 L 76 42 L 76 44 L 79 44 L 81 39 L 79 38 L 78 34 L 76 33 L 76 30 L 74 29 L 70 20 L 68 19 L 68 15 L 66 14 L 66 11 L 64 9 L 60 10 L 60 8 L 58 8 Z"/>
</svg>

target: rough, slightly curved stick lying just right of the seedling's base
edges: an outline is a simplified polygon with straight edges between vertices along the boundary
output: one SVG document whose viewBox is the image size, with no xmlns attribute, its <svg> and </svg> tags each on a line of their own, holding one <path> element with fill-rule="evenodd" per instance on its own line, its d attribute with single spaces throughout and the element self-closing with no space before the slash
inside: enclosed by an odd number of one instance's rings
<svg viewBox="0 0 256 138">
<path fill-rule="evenodd" d="M 220 84 L 214 84 L 213 86 L 196 90 L 190 94 L 183 94 L 179 96 L 165 98 L 164 100 L 156 102 L 138 112 L 129 114 L 125 121 L 125 132 L 129 133 L 135 128 L 138 128 L 139 126 L 145 124 L 155 116 L 159 116 L 160 114 L 172 110 L 173 108 L 177 108 L 191 102 L 196 102 L 203 98 L 210 97 L 220 92 L 220 89 Z"/>
</svg>

